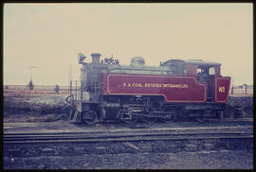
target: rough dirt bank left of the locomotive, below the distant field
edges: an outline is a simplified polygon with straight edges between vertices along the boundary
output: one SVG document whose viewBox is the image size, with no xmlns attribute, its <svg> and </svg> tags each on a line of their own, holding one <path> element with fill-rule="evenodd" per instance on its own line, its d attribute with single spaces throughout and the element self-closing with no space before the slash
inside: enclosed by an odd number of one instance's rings
<svg viewBox="0 0 256 172">
<path fill-rule="evenodd" d="M 52 122 L 66 120 L 68 105 L 64 95 L 30 97 L 27 99 L 4 98 L 4 122 Z"/>
</svg>

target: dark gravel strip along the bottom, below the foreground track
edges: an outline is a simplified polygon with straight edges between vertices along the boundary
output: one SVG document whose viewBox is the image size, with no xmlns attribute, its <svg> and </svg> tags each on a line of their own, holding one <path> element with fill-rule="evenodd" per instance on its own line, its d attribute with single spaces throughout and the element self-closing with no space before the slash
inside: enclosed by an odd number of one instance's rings
<svg viewBox="0 0 256 172">
<path fill-rule="evenodd" d="M 253 152 L 85 154 L 72 157 L 4 158 L 5 169 L 252 169 Z"/>
</svg>

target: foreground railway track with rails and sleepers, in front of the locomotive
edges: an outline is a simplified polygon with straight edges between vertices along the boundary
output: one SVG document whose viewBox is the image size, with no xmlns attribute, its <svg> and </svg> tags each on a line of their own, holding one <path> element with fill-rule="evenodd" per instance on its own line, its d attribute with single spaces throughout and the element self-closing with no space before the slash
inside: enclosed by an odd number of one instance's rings
<svg viewBox="0 0 256 172">
<path fill-rule="evenodd" d="M 251 148 L 252 127 L 109 129 L 4 134 L 4 155 L 176 152 Z"/>
</svg>

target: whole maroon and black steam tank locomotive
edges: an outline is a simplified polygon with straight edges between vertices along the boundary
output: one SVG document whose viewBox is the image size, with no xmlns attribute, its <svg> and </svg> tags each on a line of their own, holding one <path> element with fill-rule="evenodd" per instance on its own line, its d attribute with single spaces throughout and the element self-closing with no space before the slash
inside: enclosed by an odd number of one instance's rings
<svg viewBox="0 0 256 172">
<path fill-rule="evenodd" d="M 130 65 L 91 54 L 91 62 L 79 54 L 79 96 L 69 95 L 69 121 L 223 119 L 227 116 L 230 77 L 221 76 L 221 63 L 204 60 L 167 60 L 147 66 L 141 57 Z"/>
</svg>

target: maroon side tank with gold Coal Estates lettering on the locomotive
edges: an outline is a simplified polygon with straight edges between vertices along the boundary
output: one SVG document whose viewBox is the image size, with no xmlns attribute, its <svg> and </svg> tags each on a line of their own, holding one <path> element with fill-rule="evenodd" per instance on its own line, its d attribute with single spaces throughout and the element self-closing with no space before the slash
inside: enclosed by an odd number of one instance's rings
<svg viewBox="0 0 256 172">
<path fill-rule="evenodd" d="M 194 77 L 104 73 L 103 95 L 163 96 L 166 102 L 205 102 L 206 85 Z"/>
</svg>

